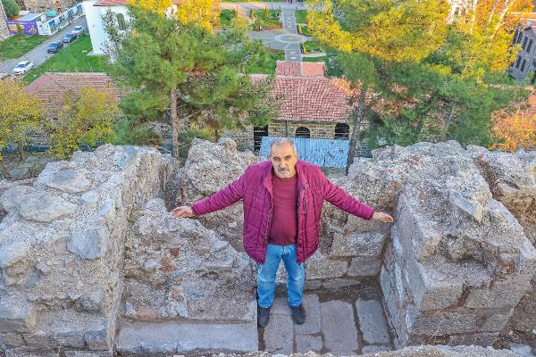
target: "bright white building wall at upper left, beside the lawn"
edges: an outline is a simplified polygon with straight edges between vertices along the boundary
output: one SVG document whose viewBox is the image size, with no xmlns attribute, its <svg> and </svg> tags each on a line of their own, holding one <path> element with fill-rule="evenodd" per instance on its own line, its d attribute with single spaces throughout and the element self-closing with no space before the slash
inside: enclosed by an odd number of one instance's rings
<svg viewBox="0 0 536 357">
<path fill-rule="evenodd" d="M 86 12 L 86 21 L 88 21 L 89 37 L 91 37 L 91 46 L 93 54 L 105 54 L 105 43 L 108 41 L 103 15 L 107 11 L 115 14 L 122 13 L 125 21 L 130 21 L 130 16 L 126 6 L 94 6 L 97 0 L 85 0 L 84 12 Z"/>
</svg>

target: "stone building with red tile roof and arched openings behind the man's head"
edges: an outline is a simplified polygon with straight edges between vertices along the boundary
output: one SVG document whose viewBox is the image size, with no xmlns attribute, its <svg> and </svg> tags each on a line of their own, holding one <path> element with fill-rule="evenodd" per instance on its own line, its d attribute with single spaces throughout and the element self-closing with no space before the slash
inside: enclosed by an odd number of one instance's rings
<svg viewBox="0 0 536 357">
<path fill-rule="evenodd" d="M 353 125 L 350 90 L 344 79 L 327 78 L 323 62 L 277 62 L 274 95 L 279 118 L 264 128 L 229 133 L 240 150 L 258 151 L 263 137 L 348 139 Z M 268 77 L 254 74 L 254 80 Z"/>
</svg>

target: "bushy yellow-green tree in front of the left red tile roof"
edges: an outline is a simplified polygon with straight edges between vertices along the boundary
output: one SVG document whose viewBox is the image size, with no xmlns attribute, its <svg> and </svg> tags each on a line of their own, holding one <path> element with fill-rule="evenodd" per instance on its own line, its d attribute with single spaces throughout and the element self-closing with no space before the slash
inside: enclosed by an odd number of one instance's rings
<svg viewBox="0 0 536 357">
<path fill-rule="evenodd" d="M 46 128 L 51 146 L 49 152 L 65 158 L 80 149 L 80 145 L 95 146 L 113 138 L 113 120 L 119 108 L 112 89 L 83 87 L 67 91 L 60 111 Z"/>
</svg>

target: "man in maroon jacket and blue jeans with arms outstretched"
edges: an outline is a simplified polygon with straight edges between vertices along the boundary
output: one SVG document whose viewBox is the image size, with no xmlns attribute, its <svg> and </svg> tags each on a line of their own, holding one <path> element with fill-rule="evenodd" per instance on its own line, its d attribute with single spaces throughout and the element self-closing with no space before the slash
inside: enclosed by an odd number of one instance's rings
<svg viewBox="0 0 536 357">
<path fill-rule="evenodd" d="M 258 264 L 257 323 L 270 320 L 275 276 L 281 260 L 287 270 L 287 291 L 292 319 L 306 320 L 301 303 L 304 262 L 318 248 L 322 202 L 326 200 L 364 220 L 392 222 L 389 214 L 374 212 L 332 184 L 318 166 L 297 160 L 296 145 L 276 138 L 270 145 L 271 161 L 255 163 L 228 187 L 197 203 L 172 210 L 173 217 L 196 217 L 222 210 L 240 199 L 244 206 L 243 244 Z"/>
</svg>

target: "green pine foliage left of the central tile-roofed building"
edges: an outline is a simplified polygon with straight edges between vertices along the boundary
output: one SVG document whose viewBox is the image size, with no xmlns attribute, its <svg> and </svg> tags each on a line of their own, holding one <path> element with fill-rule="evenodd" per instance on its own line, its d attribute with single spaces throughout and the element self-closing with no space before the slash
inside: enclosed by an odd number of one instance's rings
<svg viewBox="0 0 536 357">
<path fill-rule="evenodd" d="M 275 117 L 271 81 L 254 85 L 242 73 L 265 55 L 262 43 L 251 42 L 245 29 L 213 32 L 138 8 L 130 13 L 132 30 L 117 46 L 111 74 L 130 89 L 121 109 L 131 120 L 162 120 L 172 89 L 178 90 L 184 123 L 232 129 L 259 118 L 266 125 Z"/>
</svg>

